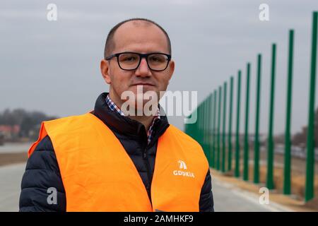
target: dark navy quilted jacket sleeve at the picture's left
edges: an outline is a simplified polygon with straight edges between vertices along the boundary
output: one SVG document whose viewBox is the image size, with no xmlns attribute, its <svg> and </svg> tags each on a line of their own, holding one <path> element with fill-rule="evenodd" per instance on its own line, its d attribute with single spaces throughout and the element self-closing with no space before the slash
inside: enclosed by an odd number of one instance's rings
<svg viewBox="0 0 318 226">
<path fill-rule="evenodd" d="M 64 186 L 49 136 L 40 141 L 28 159 L 21 182 L 19 208 L 20 212 L 66 210 Z"/>
</svg>

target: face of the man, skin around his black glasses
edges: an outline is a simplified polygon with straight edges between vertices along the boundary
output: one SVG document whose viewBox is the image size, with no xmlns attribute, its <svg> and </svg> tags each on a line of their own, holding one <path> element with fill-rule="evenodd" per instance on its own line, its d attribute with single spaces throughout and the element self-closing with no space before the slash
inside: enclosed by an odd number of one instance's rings
<svg viewBox="0 0 318 226">
<path fill-rule="evenodd" d="M 143 22 L 129 21 L 121 25 L 114 33 L 114 50 L 111 54 L 119 52 L 138 52 L 147 54 L 151 52 L 161 52 L 169 54 L 167 39 L 163 31 L 155 25 L 144 25 Z M 143 93 L 152 90 L 157 93 L 159 99 L 160 91 L 167 90 L 172 73 L 175 69 L 175 62 L 170 61 L 165 71 L 152 71 L 148 68 L 146 59 L 141 59 L 141 63 L 136 70 L 124 71 L 117 64 L 117 58 L 110 61 L 102 60 L 100 63 L 102 76 L 106 83 L 110 84 L 110 97 L 117 105 L 122 105 L 125 100 L 121 100 L 124 91 L 131 91 L 137 95 L 137 85 L 147 83 L 143 86 Z"/>
</svg>

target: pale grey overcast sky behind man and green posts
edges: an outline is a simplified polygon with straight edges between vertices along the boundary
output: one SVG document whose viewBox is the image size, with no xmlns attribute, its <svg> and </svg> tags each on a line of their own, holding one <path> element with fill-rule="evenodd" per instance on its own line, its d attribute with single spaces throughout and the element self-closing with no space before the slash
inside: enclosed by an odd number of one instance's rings
<svg viewBox="0 0 318 226">
<path fill-rule="evenodd" d="M 57 21 L 47 20 L 50 3 L 57 5 Z M 269 21 L 259 20 L 263 3 L 269 5 Z M 258 53 L 263 55 L 260 129 L 268 131 L 273 42 L 278 45 L 274 131 L 285 129 L 288 30 L 295 29 L 292 130 L 299 131 L 307 124 L 314 10 L 314 0 L 2 0 L 0 111 L 23 107 L 64 117 L 93 109 L 98 95 L 108 91 L 99 69 L 107 33 L 122 20 L 141 17 L 155 20 L 170 35 L 176 68 L 168 90 L 196 90 L 201 102 L 233 75 L 236 96 L 237 70 L 242 69 L 241 131 L 246 64 L 251 62 L 251 133 Z M 183 117 L 169 121 L 183 128 Z"/>
</svg>

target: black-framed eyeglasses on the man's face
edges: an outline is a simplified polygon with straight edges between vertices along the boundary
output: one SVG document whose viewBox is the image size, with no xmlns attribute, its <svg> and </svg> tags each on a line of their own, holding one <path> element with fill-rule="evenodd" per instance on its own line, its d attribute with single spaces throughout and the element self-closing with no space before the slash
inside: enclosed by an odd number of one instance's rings
<svg viewBox="0 0 318 226">
<path fill-rule="evenodd" d="M 117 57 L 117 63 L 122 70 L 132 71 L 136 70 L 141 62 L 142 58 L 145 58 L 149 69 L 153 71 L 165 71 L 171 60 L 171 55 L 163 54 L 160 52 L 153 52 L 149 54 L 139 54 L 137 52 L 120 52 L 112 54 L 106 57 L 106 60 L 110 60 L 113 57 Z"/>
</svg>

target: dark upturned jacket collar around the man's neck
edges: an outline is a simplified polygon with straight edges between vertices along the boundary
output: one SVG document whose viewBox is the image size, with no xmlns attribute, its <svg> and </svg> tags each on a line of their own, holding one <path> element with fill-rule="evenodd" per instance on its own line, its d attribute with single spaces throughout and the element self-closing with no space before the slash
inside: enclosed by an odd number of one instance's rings
<svg viewBox="0 0 318 226">
<path fill-rule="evenodd" d="M 110 127 L 112 131 L 135 139 L 146 139 L 147 141 L 145 126 L 139 121 L 124 117 L 117 114 L 117 112 L 112 111 L 105 100 L 107 94 L 108 93 L 102 93 L 98 96 L 93 114 Z M 161 116 L 160 119 L 155 120 L 155 124 L 153 125 L 153 137 L 151 138 L 151 143 L 158 140 L 169 126 L 167 117 L 164 113 L 161 113 L 163 112 L 162 107 L 160 105 L 158 105 L 158 107 L 160 107 Z"/>
</svg>

